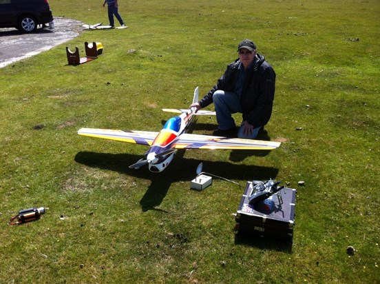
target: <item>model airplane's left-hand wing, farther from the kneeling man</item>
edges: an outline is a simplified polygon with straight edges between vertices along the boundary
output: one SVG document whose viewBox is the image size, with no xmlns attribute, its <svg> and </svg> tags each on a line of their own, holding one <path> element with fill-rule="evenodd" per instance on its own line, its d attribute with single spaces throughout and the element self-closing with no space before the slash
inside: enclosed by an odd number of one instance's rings
<svg viewBox="0 0 380 284">
<path fill-rule="evenodd" d="M 153 143 L 156 136 L 158 135 L 158 132 L 81 128 L 80 130 L 78 130 L 78 134 L 82 136 L 150 146 Z"/>
</svg>

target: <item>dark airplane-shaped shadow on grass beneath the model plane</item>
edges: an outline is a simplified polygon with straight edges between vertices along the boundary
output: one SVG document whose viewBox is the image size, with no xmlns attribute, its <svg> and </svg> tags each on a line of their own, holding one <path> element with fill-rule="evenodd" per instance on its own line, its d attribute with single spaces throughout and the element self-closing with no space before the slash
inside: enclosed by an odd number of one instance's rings
<svg viewBox="0 0 380 284">
<path fill-rule="evenodd" d="M 179 150 L 169 168 L 160 173 L 149 172 L 147 166 L 140 168 L 140 170 L 129 169 L 129 165 L 136 163 L 141 158 L 140 155 L 135 154 L 78 152 L 74 160 L 77 163 L 92 168 L 112 170 L 140 179 L 150 179 L 151 185 L 149 185 L 140 200 L 140 205 L 144 212 L 156 210 L 155 207 L 160 205 L 163 199 L 165 199 L 171 183 L 176 181 L 190 182 L 194 179 L 196 177 L 196 168 L 200 162 L 203 163 L 204 172 L 210 172 L 226 179 L 243 181 L 267 180 L 275 179 L 278 174 L 277 168 L 260 167 L 257 165 L 235 165 L 222 161 L 199 161 L 197 159 L 184 158 L 185 152 L 185 150 Z"/>
</svg>

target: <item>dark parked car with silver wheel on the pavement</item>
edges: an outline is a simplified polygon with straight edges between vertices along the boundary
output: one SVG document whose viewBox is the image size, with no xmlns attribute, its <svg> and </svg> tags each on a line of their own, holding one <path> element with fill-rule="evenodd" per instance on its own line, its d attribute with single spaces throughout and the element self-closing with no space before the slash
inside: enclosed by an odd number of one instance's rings
<svg viewBox="0 0 380 284">
<path fill-rule="evenodd" d="M 52 26 L 52 21 L 48 0 L 0 0 L 0 28 L 34 32 L 39 25 Z"/>
</svg>

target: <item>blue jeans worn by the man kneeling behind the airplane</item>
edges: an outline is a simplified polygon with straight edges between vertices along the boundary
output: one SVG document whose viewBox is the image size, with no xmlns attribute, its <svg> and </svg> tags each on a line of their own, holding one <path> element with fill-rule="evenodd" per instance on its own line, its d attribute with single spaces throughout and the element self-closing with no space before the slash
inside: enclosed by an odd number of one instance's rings
<svg viewBox="0 0 380 284">
<path fill-rule="evenodd" d="M 218 121 L 218 128 L 220 130 L 229 130 L 235 128 L 235 120 L 232 114 L 236 112 L 242 112 L 242 105 L 240 104 L 240 98 L 234 92 L 224 92 L 223 90 L 217 90 L 213 94 L 213 103 L 216 112 L 216 121 Z M 239 128 L 237 137 L 244 139 L 255 139 L 259 133 L 261 126 L 254 128 L 251 135 L 246 136 L 243 134 L 242 128 Z"/>
</svg>

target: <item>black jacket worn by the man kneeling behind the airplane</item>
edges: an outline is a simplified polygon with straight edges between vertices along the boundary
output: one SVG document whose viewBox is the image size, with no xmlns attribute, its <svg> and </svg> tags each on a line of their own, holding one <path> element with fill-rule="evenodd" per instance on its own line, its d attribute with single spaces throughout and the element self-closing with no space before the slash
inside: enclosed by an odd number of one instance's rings
<svg viewBox="0 0 380 284">
<path fill-rule="evenodd" d="M 266 125 L 271 118 L 276 79 L 275 71 L 265 61 L 264 56 L 257 54 L 257 57 L 259 61 L 246 75 L 241 97 L 243 121 L 248 121 L 254 128 Z M 213 103 L 213 93 L 216 90 L 235 92 L 235 77 L 239 64 L 239 59 L 236 59 L 227 66 L 216 85 L 199 101 L 202 108 Z"/>
</svg>

